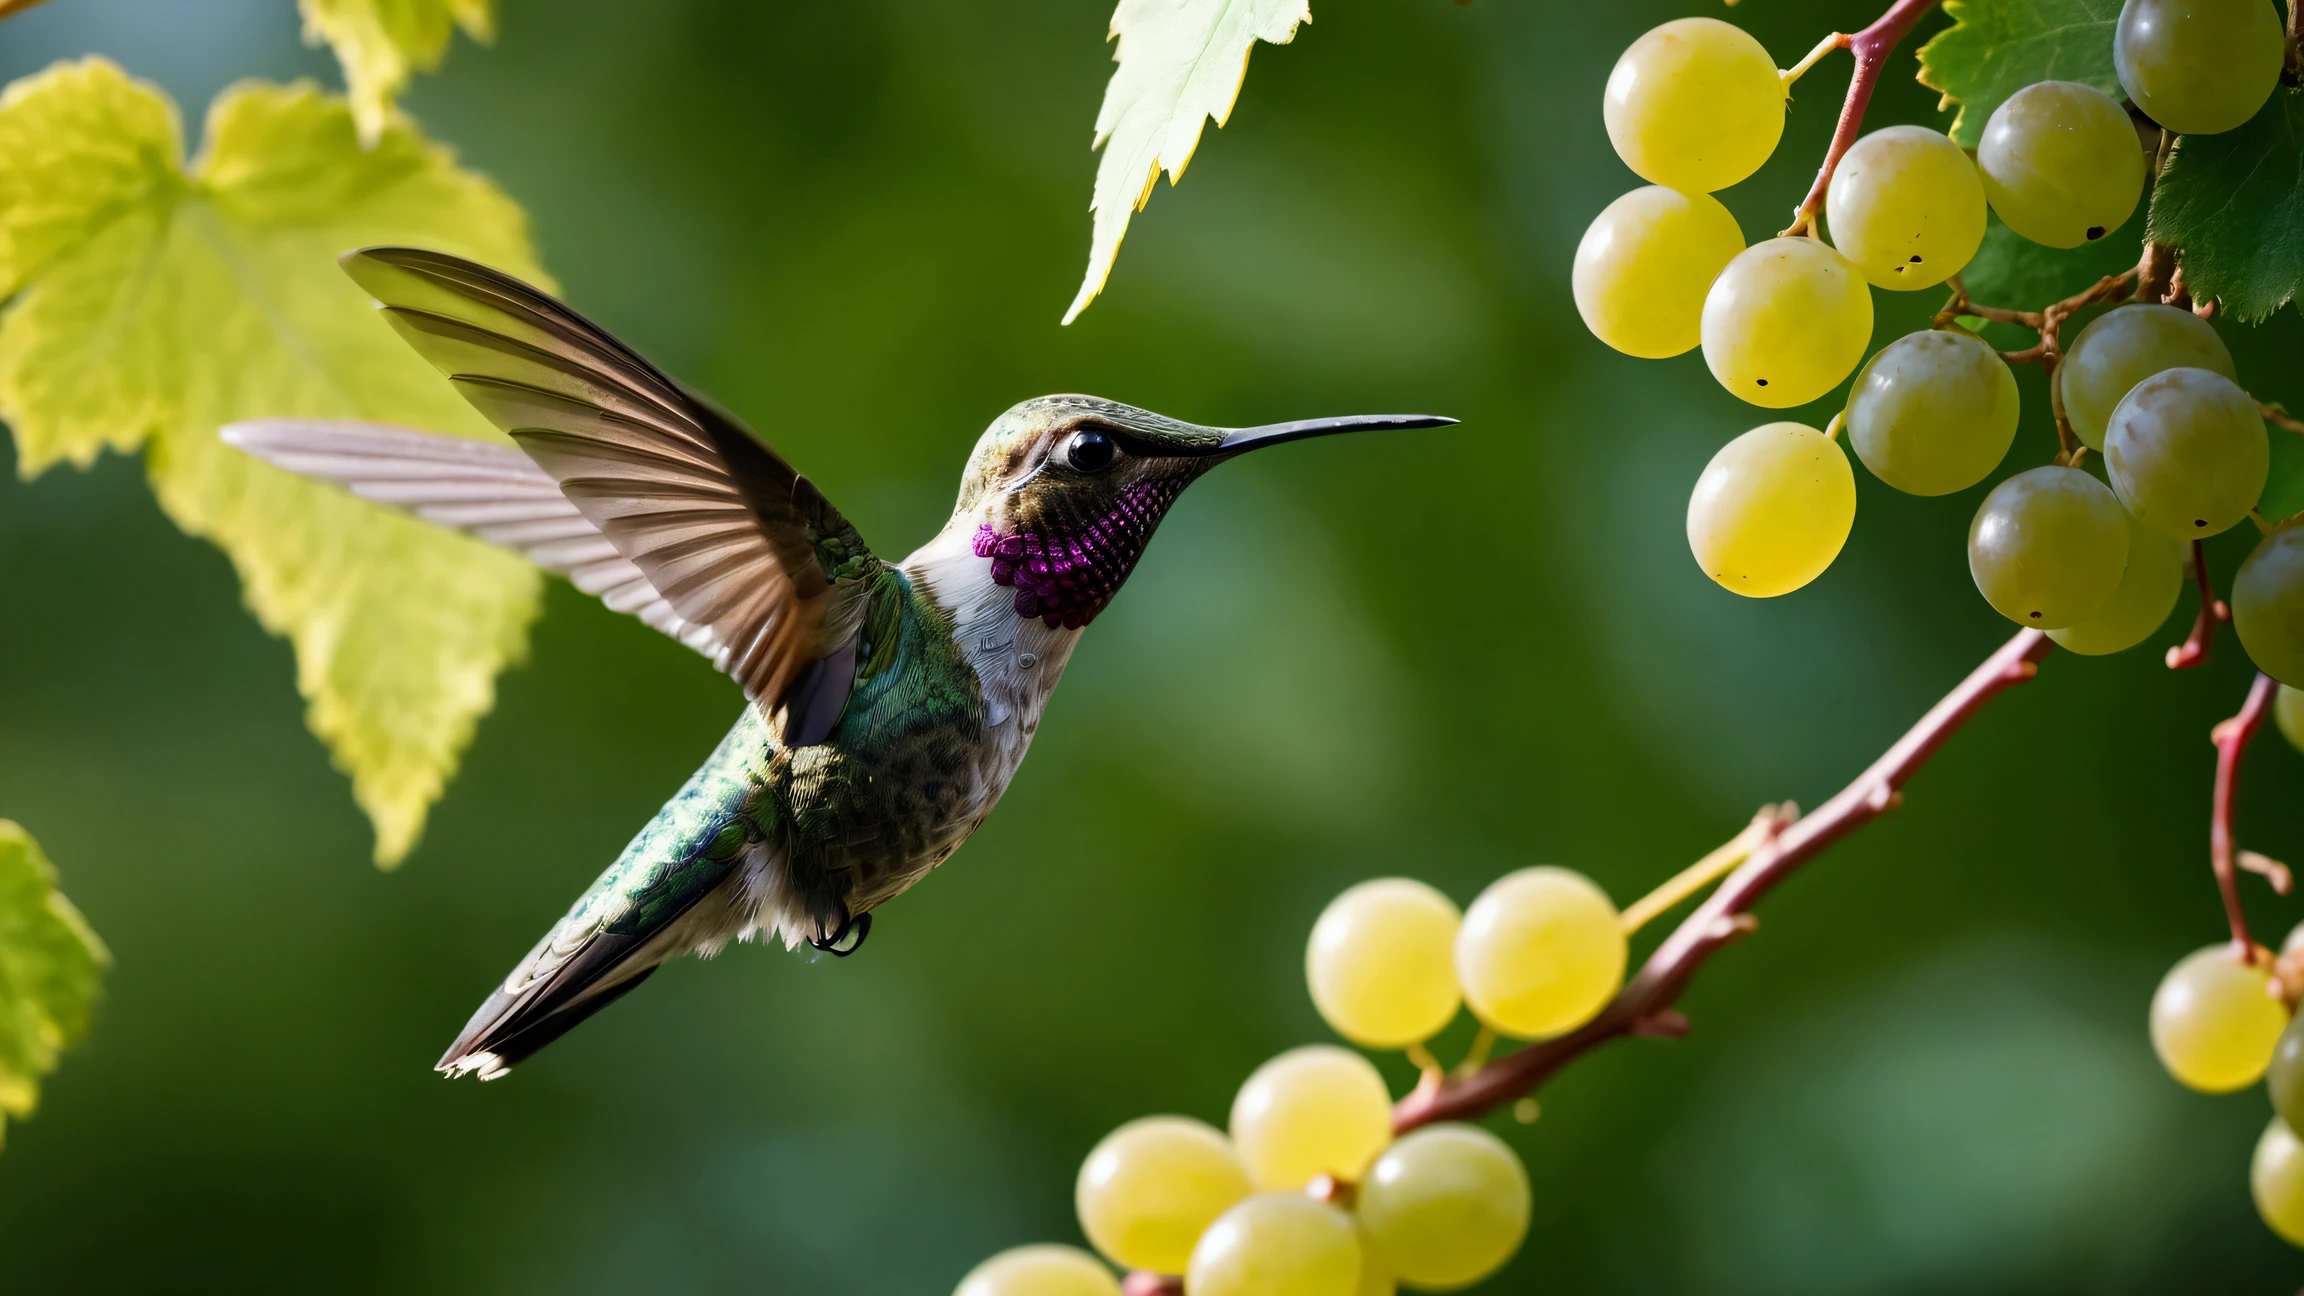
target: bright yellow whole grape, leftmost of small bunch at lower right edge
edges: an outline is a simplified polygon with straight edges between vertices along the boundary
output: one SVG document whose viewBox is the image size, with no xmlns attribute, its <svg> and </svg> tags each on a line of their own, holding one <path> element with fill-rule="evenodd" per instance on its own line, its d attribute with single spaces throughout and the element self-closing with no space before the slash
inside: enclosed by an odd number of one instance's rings
<svg viewBox="0 0 2304 1296">
<path fill-rule="evenodd" d="M 2230 1093 L 2256 1084 L 2288 1026 L 2272 975 L 2207 945 L 2168 969 L 2152 992 L 2152 1052 L 2180 1084 Z"/>
</svg>

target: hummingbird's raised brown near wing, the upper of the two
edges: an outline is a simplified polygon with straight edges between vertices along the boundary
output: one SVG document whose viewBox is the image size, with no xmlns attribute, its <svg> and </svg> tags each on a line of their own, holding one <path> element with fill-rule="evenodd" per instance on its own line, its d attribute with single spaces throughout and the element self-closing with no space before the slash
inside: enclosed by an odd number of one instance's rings
<svg viewBox="0 0 2304 1296">
<path fill-rule="evenodd" d="M 887 567 L 733 415 L 553 297 L 458 256 L 343 256 L 417 353 L 560 484 L 786 745 L 820 743 Z"/>
</svg>

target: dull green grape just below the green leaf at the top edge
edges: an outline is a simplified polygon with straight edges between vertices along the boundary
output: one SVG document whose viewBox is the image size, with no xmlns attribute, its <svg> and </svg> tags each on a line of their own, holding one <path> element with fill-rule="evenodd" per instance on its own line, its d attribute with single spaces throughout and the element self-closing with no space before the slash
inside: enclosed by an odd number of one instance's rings
<svg viewBox="0 0 2304 1296">
<path fill-rule="evenodd" d="M 1993 108 L 1977 168 L 2000 219 L 2046 247 L 2113 233 L 2145 191 L 2129 115 L 2078 81 L 2037 81 Z"/>
</svg>

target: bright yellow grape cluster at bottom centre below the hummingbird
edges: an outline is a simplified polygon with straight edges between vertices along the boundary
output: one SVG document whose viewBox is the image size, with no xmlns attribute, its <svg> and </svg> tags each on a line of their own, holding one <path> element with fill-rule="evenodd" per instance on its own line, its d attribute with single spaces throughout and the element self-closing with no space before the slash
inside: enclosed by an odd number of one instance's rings
<svg viewBox="0 0 2304 1296">
<path fill-rule="evenodd" d="M 1304 975 L 1320 1017 L 1366 1049 L 1410 1049 L 1461 1005 L 1493 1031 L 1574 1031 L 1624 980 L 1627 925 L 1583 874 L 1498 879 L 1468 911 L 1410 879 L 1339 895 L 1313 925 Z M 1479 1125 L 1392 1132 L 1392 1095 L 1350 1049 L 1309 1045 L 1256 1070 L 1230 1130 L 1189 1116 L 1120 1125 L 1087 1153 L 1081 1231 L 1117 1266 L 1182 1275 L 1189 1296 L 1454 1291 L 1521 1248 L 1528 1169 Z M 958 1296 L 1117 1296 L 1094 1254 L 1016 1248 Z"/>
</svg>

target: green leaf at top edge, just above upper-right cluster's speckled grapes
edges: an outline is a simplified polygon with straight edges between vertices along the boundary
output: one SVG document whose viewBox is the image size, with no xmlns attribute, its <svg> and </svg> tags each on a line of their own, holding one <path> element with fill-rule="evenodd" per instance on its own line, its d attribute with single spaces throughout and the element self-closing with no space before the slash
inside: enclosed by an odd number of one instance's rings
<svg viewBox="0 0 2304 1296">
<path fill-rule="evenodd" d="M 1945 0 L 1951 25 L 1919 46 L 1919 83 L 1961 106 L 1951 138 L 1977 148 L 2002 99 L 2034 81 L 2085 81 L 2120 97 L 2120 0 Z"/>
</svg>

